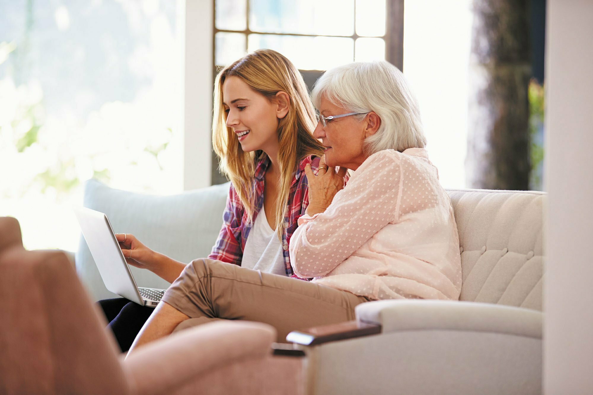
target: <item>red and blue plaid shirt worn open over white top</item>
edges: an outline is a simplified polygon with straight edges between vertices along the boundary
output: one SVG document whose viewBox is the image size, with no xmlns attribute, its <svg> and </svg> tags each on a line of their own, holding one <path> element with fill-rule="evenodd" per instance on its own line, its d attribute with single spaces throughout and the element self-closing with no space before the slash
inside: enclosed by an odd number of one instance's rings
<svg viewBox="0 0 593 395">
<path fill-rule="evenodd" d="M 297 220 L 301 215 L 305 214 L 307 206 L 309 205 L 309 189 L 307 183 L 307 176 L 305 176 L 305 165 L 311 164 L 311 170 L 317 174 L 317 167 L 320 158 L 307 157 L 299 163 L 294 178 L 292 179 L 291 191 L 288 195 L 288 210 L 284 217 L 285 231 L 282 234 L 282 253 L 284 256 L 284 268 L 286 276 L 297 277 L 292 273 L 291 261 L 288 253 L 288 245 L 290 243 L 292 234 L 298 227 Z M 263 207 L 263 187 L 264 176 L 267 167 L 270 165 L 270 159 L 267 155 L 257 163 L 254 175 L 254 189 L 256 193 L 256 209 L 253 213 L 253 221 L 255 221 L 257 214 Z M 247 211 L 241 204 L 241 200 L 237 195 L 237 191 L 232 186 L 229 188 L 227 207 L 222 215 L 223 224 L 218 240 L 212 247 L 212 252 L 208 256 L 209 259 L 221 260 L 222 262 L 234 263 L 241 266 L 241 259 L 243 259 L 243 250 L 245 243 L 253 222 L 248 222 Z"/>
</svg>

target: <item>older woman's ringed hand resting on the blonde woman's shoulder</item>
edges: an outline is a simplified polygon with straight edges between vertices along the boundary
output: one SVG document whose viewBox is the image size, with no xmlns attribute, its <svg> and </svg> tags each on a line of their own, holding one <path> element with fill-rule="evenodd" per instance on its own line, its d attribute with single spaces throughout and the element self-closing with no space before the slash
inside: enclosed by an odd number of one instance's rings
<svg viewBox="0 0 593 395">
<path fill-rule="evenodd" d="M 326 157 L 323 155 L 319 162 L 317 176 L 313 174 L 311 165 L 305 166 L 305 174 L 309 184 L 309 206 L 308 215 L 315 215 L 326 211 L 336 193 L 344 188 L 344 176 L 348 169 L 340 167 L 336 173 L 333 167 L 327 167 Z"/>
</svg>

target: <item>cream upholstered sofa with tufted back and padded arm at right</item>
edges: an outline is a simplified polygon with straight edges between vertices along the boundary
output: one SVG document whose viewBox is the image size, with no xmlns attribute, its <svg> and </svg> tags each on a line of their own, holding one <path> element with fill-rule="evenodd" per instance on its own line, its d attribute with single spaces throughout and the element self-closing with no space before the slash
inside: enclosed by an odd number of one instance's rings
<svg viewBox="0 0 593 395">
<path fill-rule="evenodd" d="M 448 192 L 462 251 L 461 301 L 367 302 L 342 333 L 290 333 L 307 355 L 308 393 L 541 393 L 545 195 Z"/>
</svg>

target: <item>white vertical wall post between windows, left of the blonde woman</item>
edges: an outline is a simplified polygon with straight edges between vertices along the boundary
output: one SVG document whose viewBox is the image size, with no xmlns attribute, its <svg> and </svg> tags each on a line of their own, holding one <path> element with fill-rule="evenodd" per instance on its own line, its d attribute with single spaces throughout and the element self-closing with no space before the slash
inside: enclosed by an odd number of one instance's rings
<svg viewBox="0 0 593 395">
<path fill-rule="evenodd" d="M 183 189 L 211 185 L 213 2 L 180 1 L 183 44 Z"/>
</svg>

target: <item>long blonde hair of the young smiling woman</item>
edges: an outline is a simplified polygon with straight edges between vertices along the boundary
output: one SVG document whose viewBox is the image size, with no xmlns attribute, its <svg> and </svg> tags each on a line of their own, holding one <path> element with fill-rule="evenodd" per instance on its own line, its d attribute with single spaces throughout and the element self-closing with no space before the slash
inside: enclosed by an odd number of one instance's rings
<svg viewBox="0 0 593 395">
<path fill-rule="evenodd" d="M 222 84 L 228 77 L 241 78 L 254 91 L 275 100 L 279 91 L 288 94 L 290 103 L 285 117 L 278 124 L 278 164 L 280 182 L 275 202 L 276 229 L 282 240 L 286 203 L 292 177 L 301 160 L 309 155 L 323 155 L 323 145 L 313 138 L 315 110 L 301 73 L 280 53 L 259 49 L 222 69 L 214 83 L 214 114 L 212 118 L 212 146 L 219 158 L 221 173 L 231 180 L 237 195 L 253 221 L 255 190 L 253 188 L 257 160 L 263 151 L 244 152 L 232 128 L 226 125 L 222 104 Z"/>
</svg>

